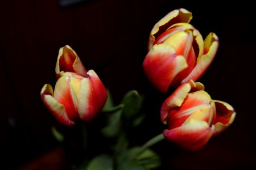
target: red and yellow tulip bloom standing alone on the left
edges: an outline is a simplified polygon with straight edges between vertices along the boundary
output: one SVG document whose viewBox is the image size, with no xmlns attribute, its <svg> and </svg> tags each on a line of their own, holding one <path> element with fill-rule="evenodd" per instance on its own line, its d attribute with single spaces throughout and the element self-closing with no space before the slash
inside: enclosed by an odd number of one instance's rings
<svg viewBox="0 0 256 170">
<path fill-rule="evenodd" d="M 76 120 L 90 121 L 104 106 L 107 93 L 93 70 L 86 71 L 80 58 L 68 45 L 60 48 L 56 63 L 55 89 L 45 84 L 41 90 L 44 105 L 64 125 Z"/>
</svg>

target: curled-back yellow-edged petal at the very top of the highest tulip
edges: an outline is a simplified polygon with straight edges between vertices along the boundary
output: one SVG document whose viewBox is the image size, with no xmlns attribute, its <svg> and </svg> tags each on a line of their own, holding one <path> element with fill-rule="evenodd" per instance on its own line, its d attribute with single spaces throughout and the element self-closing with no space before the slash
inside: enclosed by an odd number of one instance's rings
<svg viewBox="0 0 256 170">
<path fill-rule="evenodd" d="M 158 23 L 154 25 L 150 33 L 148 40 L 148 51 L 152 48 L 155 42 L 155 37 L 158 37 L 161 33 L 167 30 L 172 24 L 175 23 L 189 23 L 192 19 L 191 12 L 180 8 L 169 12 L 164 18 L 160 19 Z"/>
</svg>

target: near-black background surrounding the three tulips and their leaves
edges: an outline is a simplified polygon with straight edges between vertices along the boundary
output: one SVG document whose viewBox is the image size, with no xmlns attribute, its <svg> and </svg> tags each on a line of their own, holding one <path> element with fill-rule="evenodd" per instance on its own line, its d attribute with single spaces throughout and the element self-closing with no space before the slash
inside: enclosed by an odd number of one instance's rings
<svg viewBox="0 0 256 170">
<path fill-rule="evenodd" d="M 231 104 L 237 117 L 200 151 L 183 151 L 166 141 L 153 148 L 163 155 L 163 169 L 256 168 L 255 10 L 246 1 L 234 2 L 95 0 L 61 7 L 52 0 L 1 1 L 1 167 L 69 169 L 51 133 L 52 125 L 61 125 L 40 100 L 43 85 L 56 82 L 57 54 L 66 44 L 96 71 L 116 104 L 129 90 L 146 94 L 148 120 L 155 123 L 149 121 L 154 125 L 141 136 L 161 133 L 158 109 L 165 96 L 148 82 L 142 62 L 154 24 L 183 7 L 192 12 L 191 24 L 204 38 L 215 32 L 220 39 L 216 58 L 199 82 L 213 99 Z"/>
</svg>

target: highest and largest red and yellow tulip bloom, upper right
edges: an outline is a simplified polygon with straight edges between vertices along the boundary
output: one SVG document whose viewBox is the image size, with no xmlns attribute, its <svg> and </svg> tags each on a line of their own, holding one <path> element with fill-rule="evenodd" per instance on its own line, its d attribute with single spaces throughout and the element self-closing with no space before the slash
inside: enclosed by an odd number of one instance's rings
<svg viewBox="0 0 256 170">
<path fill-rule="evenodd" d="M 191 24 L 191 12 L 171 11 L 152 28 L 143 69 L 161 92 L 178 87 L 205 73 L 218 49 L 218 37 L 209 33 L 205 40 Z"/>
</svg>

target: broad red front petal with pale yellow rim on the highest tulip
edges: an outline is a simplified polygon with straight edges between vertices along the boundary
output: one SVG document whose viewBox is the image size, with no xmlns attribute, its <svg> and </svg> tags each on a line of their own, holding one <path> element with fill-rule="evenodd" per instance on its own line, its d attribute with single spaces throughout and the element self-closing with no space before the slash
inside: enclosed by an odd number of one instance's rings
<svg viewBox="0 0 256 170">
<path fill-rule="evenodd" d="M 168 44 L 154 45 L 143 62 L 147 78 L 161 92 L 167 92 L 175 76 L 187 67 L 185 58 Z"/>
</svg>

